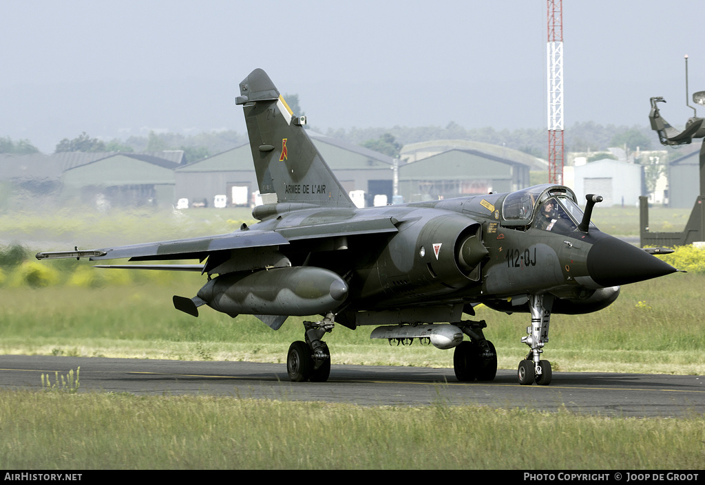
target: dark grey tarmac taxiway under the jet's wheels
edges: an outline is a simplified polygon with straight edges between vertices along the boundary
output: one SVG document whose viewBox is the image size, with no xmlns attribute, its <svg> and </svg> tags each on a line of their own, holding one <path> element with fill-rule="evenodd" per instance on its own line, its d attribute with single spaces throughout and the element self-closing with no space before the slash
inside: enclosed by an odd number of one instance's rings
<svg viewBox="0 0 705 485">
<path fill-rule="evenodd" d="M 286 364 L 1 355 L 0 387 L 40 391 L 80 367 L 79 392 L 208 394 L 357 405 L 484 405 L 624 417 L 705 414 L 705 376 L 553 372 L 550 386 L 520 386 L 514 369 L 461 383 L 453 369 L 336 365 L 325 383 L 293 383 Z"/>
</svg>

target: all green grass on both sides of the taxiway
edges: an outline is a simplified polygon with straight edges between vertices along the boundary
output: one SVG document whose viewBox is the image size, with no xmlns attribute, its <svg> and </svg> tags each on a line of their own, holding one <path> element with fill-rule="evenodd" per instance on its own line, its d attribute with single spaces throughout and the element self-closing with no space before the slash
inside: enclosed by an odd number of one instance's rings
<svg viewBox="0 0 705 485">
<path fill-rule="evenodd" d="M 663 211 L 651 213 L 654 230 L 678 230 L 680 219 L 685 223 L 678 212 Z M 23 243 L 28 252 L 74 243 L 100 247 L 225 233 L 249 221 L 247 216 L 216 209 L 85 220 L 69 213 L 0 214 L 0 238 Z M 634 217 L 633 227 L 625 222 Z M 638 211 L 596 209 L 594 220 L 604 231 L 635 235 Z M 705 374 L 705 258 L 699 252 L 677 256 L 671 264 L 691 272 L 625 286 L 601 312 L 554 315 L 545 354 L 553 369 Z M 0 268 L 0 360 L 23 353 L 284 362 L 288 345 L 303 336 L 301 318 L 272 331 L 253 317 L 233 320 L 204 308 L 194 319 L 173 309 L 171 296 L 195 295 L 204 283 L 200 275 L 128 276 L 87 266 L 15 261 Z M 499 367 L 515 369 L 527 352 L 520 338 L 528 315 L 478 308 L 475 318 L 488 323 L 485 333 L 496 345 Z M 370 331 L 336 326 L 326 336 L 333 365 L 452 367 L 452 351 L 391 347 L 370 340 Z M 624 419 L 450 406 L 441 398 L 427 407 L 357 407 L 83 390 L 89 392 L 1 391 L 0 467 L 701 469 L 705 457 L 702 415 Z"/>
</svg>

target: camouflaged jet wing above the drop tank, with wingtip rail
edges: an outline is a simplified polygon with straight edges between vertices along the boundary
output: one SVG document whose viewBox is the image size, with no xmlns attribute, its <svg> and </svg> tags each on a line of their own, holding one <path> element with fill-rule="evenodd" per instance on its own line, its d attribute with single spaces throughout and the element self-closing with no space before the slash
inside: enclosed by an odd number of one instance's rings
<svg viewBox="0 0 705 485">
<path fill-rule="evenodd" d="M 288 245 L 289 241 L 316 238 L 332 238 L 342 235 L 364 235 L 396 233 L 397 221 L 391 217 L 350 219 L 349 221 L 325 222 L 305 226 L 277 228 L 272 231 L 259 231 L 246 226 L 234 233 L 208 236 L 204 238 L 179 239 L 143 243 L 98 250 L 48 251 L 38 252 L 37 259 L 60 259 L 87 257 L 90 261 L 129 258 L 130 261 L 160 261 L 170 259 L 204 260 L 209 254 L 223 250 L 240 250 L 253 247 Z M 166 269 L 153 267 L 145 269 Z M 186 269 L 183 271 L 193 271 Z"/>
</svg>

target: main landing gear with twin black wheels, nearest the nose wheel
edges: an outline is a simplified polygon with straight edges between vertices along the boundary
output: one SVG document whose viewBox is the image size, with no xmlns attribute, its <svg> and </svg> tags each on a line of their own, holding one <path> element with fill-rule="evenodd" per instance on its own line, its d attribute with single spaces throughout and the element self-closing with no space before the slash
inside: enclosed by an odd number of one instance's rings
<svg viewBox="0 0 705 485">
<path fill-rule="evenodd" d="M 453 368 L 458 381 L 492 381 L 497 374 L 497 351 L 486 340 L 482 329 L 487 324 L 482 321 L 462 321 L 457 324 L 470 340 L 464 340 L 455 348 Z"/>
</svg>

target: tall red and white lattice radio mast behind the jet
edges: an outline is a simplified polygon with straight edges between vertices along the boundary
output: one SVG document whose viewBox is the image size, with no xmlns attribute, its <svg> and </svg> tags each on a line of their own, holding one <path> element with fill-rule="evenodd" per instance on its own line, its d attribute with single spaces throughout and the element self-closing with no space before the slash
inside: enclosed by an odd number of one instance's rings
<svg viewBox="0 0 705 485">
<path fill-rule="evenodd" d="M 548 0 L 548 183 L 563 184 L 563 0 Z"/>
</svg>

